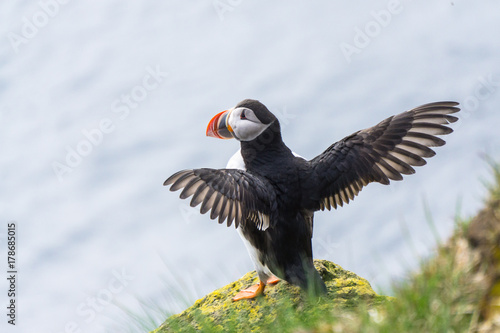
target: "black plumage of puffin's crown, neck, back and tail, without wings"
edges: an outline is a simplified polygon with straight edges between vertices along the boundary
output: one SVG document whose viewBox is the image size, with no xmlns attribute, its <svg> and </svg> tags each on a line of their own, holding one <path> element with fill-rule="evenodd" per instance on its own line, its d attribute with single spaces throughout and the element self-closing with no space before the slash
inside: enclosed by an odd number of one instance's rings
<svg viewBox="0 0 500 333">
<path fill-rule="evenodd" d="M 251 109 L 262 123 L 270 124 L 256 139 L 241 142 L 241 154 L 247 172 L 273 184 L 278 212 L 268 229 L 245 223 L 242 234 L 257 249 L 258 260 L 275 275 L 315 295 L 325 293 L 326 286 L 312 262 L 313 214 L 300 209 L 300 171 L 306 162 L 294 157 L 284 144 L 279 121 L 266 106 L 247 99 L 236 107 Z"/>
</svg>

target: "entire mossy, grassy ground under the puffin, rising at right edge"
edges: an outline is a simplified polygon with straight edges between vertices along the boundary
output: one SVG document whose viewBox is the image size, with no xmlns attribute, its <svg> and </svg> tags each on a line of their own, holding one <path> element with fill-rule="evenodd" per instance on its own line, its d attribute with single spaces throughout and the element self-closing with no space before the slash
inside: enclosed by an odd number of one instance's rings
<svg viewBox="0 0 500 333">
<path fill-rule="evenodd" d="M 418 273 L 379 296 L 369 283 L 328 261 L 315 262 L 328 294 L 310 299 L 280 282 L 265 296 L 232 302 L 256 281 L 255 272 L 171 316 L 163 332 L 500 332 L 500 168 L 476 217 L 457 221 Z"/>
</svg>

